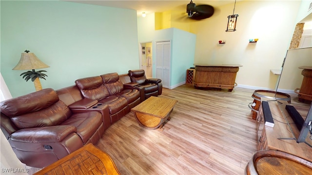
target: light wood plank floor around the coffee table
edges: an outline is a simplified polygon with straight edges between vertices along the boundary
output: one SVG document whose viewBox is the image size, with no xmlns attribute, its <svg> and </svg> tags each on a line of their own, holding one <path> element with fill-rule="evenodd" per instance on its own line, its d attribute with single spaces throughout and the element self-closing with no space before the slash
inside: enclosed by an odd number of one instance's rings
<svg viewBox="0 0 312 175">
<path fill-rule="evenodd" d="M 98 146 L 123 175 L 243 175 L 256 151 L 248 104 L 254 90 L 163 89 L 178 100 L 164 130 L 138 125 L 133 113 L 110 126 Z"/>
</svg>

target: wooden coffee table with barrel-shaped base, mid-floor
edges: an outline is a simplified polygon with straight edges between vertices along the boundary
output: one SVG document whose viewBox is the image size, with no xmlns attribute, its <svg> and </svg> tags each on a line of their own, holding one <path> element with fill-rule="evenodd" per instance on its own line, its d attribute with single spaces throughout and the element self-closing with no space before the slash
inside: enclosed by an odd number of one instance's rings
<svg viewBox="0 0 312 175">
<path fill-rule="evenodd" d="M 161 129 L 163 123 L 170 120 L 170 114 L 176 103 L 177 100 L 151 96 L 131 111 L 134 112 L 141 126 L 148 129 Z"/>
</svg>

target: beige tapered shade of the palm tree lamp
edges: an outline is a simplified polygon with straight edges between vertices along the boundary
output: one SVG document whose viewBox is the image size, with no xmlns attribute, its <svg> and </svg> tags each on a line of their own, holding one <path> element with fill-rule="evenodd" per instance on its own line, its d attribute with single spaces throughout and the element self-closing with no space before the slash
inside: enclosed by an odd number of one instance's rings
<svg viewBox="0 0 312 175">
<path fill-rule="evenodd" d="M 35 53 L 21 53 L 19 63 L 12 70 L 34 70 L 49 67 L 40 61 Z"/>
</svg>

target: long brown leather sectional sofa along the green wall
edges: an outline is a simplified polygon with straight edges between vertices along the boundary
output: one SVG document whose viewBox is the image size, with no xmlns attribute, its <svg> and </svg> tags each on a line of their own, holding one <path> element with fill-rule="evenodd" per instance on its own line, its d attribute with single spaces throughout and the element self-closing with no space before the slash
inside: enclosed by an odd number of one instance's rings
<svg viewBox="0 0 312 175">
<path fill-rule="evenodd" d="M 154 96 L 162 92 L 161 80 L 156 82 L 148 83 L 156 90 Z M 0 103 L 1 130 L 21 162 L 43 168 L 85 144 L 96 144 L 111 124 L 146 97 L 144 87 L 131 82 L 129 74 L 108 73 L 75 84 Z"/>
</svg>

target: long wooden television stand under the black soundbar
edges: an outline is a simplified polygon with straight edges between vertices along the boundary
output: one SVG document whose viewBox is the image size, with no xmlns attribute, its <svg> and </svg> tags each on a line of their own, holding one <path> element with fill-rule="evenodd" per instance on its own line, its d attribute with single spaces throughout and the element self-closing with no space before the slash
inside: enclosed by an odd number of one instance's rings
<svg viewBox="0 0 312 175">
<path fill-rule="evenodd" d="M 273 115 L 274 127 L 264 125 L 262 105 L 260 105 L 256 118 L 257 150 L 278 150 L 312 162 L 312 147 L 308 145 L 312 144 L 312 140 L 308 140 L 308 144 L 304 142 L 297 143 L 294 138 L 299 130 L 294 124 L 287 124 L 287 120 L 289 123 L 293 123 L 290 116 L 286 120 L 283 115 L 283 113 L 285 116 L 288 115 L 285 109 L 285 105 L 289 105 L 288 102 L 268 101 L 268 103 Z M 282 108 L 285 109 L 285 112 L 279 107 L 278 103 L 284 106 Z M 289 126 L 291 126 L 293 132 L 290 131 Z"/>
</svg>

